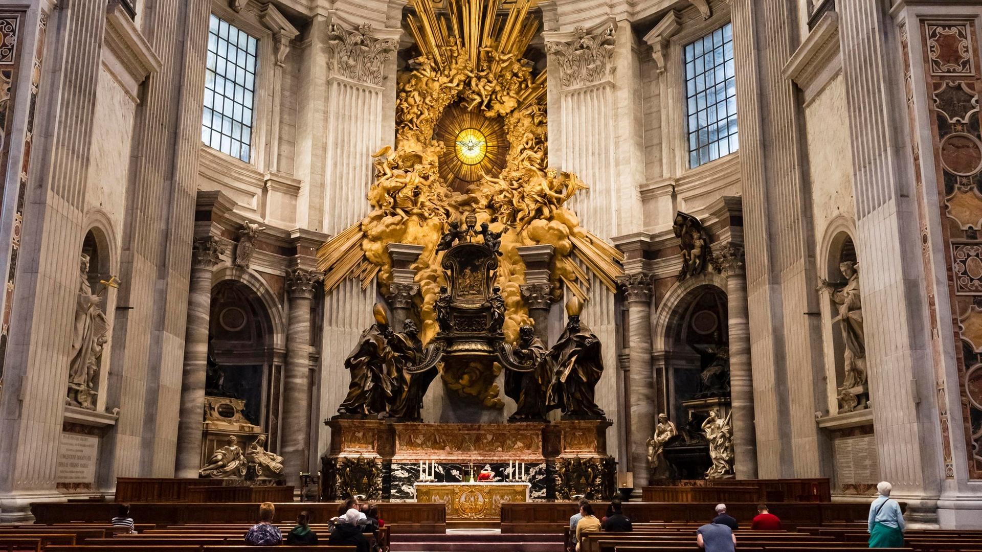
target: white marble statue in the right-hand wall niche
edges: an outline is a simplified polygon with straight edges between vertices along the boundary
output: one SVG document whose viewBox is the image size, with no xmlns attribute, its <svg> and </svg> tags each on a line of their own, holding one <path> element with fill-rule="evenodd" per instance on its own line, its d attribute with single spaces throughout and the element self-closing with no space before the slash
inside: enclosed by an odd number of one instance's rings
<svg viewBox="0 0 982 552">
<path fill-rule="evenodd" d="M 850 413 L 865 409 L 869 397 L 866 386 L 866 344 L 863 333 L 862 299 L 859 290 L 859 270 L 853 261 L 839 263 L 846 276 L 845 282 L 829 282 L 823 279 L 819 290 L 829 292 L 829 298 L 838 308 L 846 351 L 843 353 L 845 376 L 839 387 L 839 412 Z"/>
</svg>

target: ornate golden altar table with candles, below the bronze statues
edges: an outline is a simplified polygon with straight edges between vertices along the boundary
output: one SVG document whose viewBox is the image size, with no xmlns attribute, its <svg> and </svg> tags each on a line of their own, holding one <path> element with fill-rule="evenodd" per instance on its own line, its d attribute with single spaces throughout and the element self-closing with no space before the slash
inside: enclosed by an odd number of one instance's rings
<svg viewBox="0 0 982 552">
<path fill-rule="evenodd" d="M 528 502 L 529 483 L 414 483 L 416 502 L 442 502 L 448 520 L 500 520 L 503 502 Z"/>
</svg>

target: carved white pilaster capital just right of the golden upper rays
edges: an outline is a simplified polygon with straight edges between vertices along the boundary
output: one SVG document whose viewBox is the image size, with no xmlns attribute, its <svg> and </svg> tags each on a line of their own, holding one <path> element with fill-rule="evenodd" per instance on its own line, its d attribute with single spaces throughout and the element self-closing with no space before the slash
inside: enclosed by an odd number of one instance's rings
<svg viewBox="0 0 982 552">
<path fill-rule="evenodd" d="M 598 83 L 614 77 L 614 25 L 596 34 L 573 30 L 573 40 L 546 42 L 546 52 L 559 68 L 563 87 Z M 550 68 L 551 70 L 551 68 Z"/>
</svg>

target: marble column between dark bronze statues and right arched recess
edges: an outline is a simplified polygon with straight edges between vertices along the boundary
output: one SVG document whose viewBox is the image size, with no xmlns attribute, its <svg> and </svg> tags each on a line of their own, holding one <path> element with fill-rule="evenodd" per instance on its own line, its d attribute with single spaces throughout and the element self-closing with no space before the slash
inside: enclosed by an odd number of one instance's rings
<svg viewBox="0 0 982 552">
<path fill-rule="evenodd" d="M 627 427 L 629 469 L 634 487 L 648 484 L 648 438 L 655 430 L 655 385 L 651 371 L 651 276 L 628 274 L 620 279 L 627 300 L 630 366 L 630 425 Z"/>
</svg>

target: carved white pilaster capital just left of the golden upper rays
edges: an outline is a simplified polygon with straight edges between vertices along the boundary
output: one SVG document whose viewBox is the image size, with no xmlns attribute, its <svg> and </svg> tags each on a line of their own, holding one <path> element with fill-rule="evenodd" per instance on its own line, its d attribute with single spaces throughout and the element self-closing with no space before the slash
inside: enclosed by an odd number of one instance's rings
<svg viewBox="0 0 982 552">
<path fill-rule="evenodd" d="M 385 62 L 398 46 L 394 38 L 376 38 L 371 25 L 363 23 L 356 30 L 331 24 L 327 48 L 328 70 L 358 83 L 380 85 L 385 80 Z"/>
</svg>

